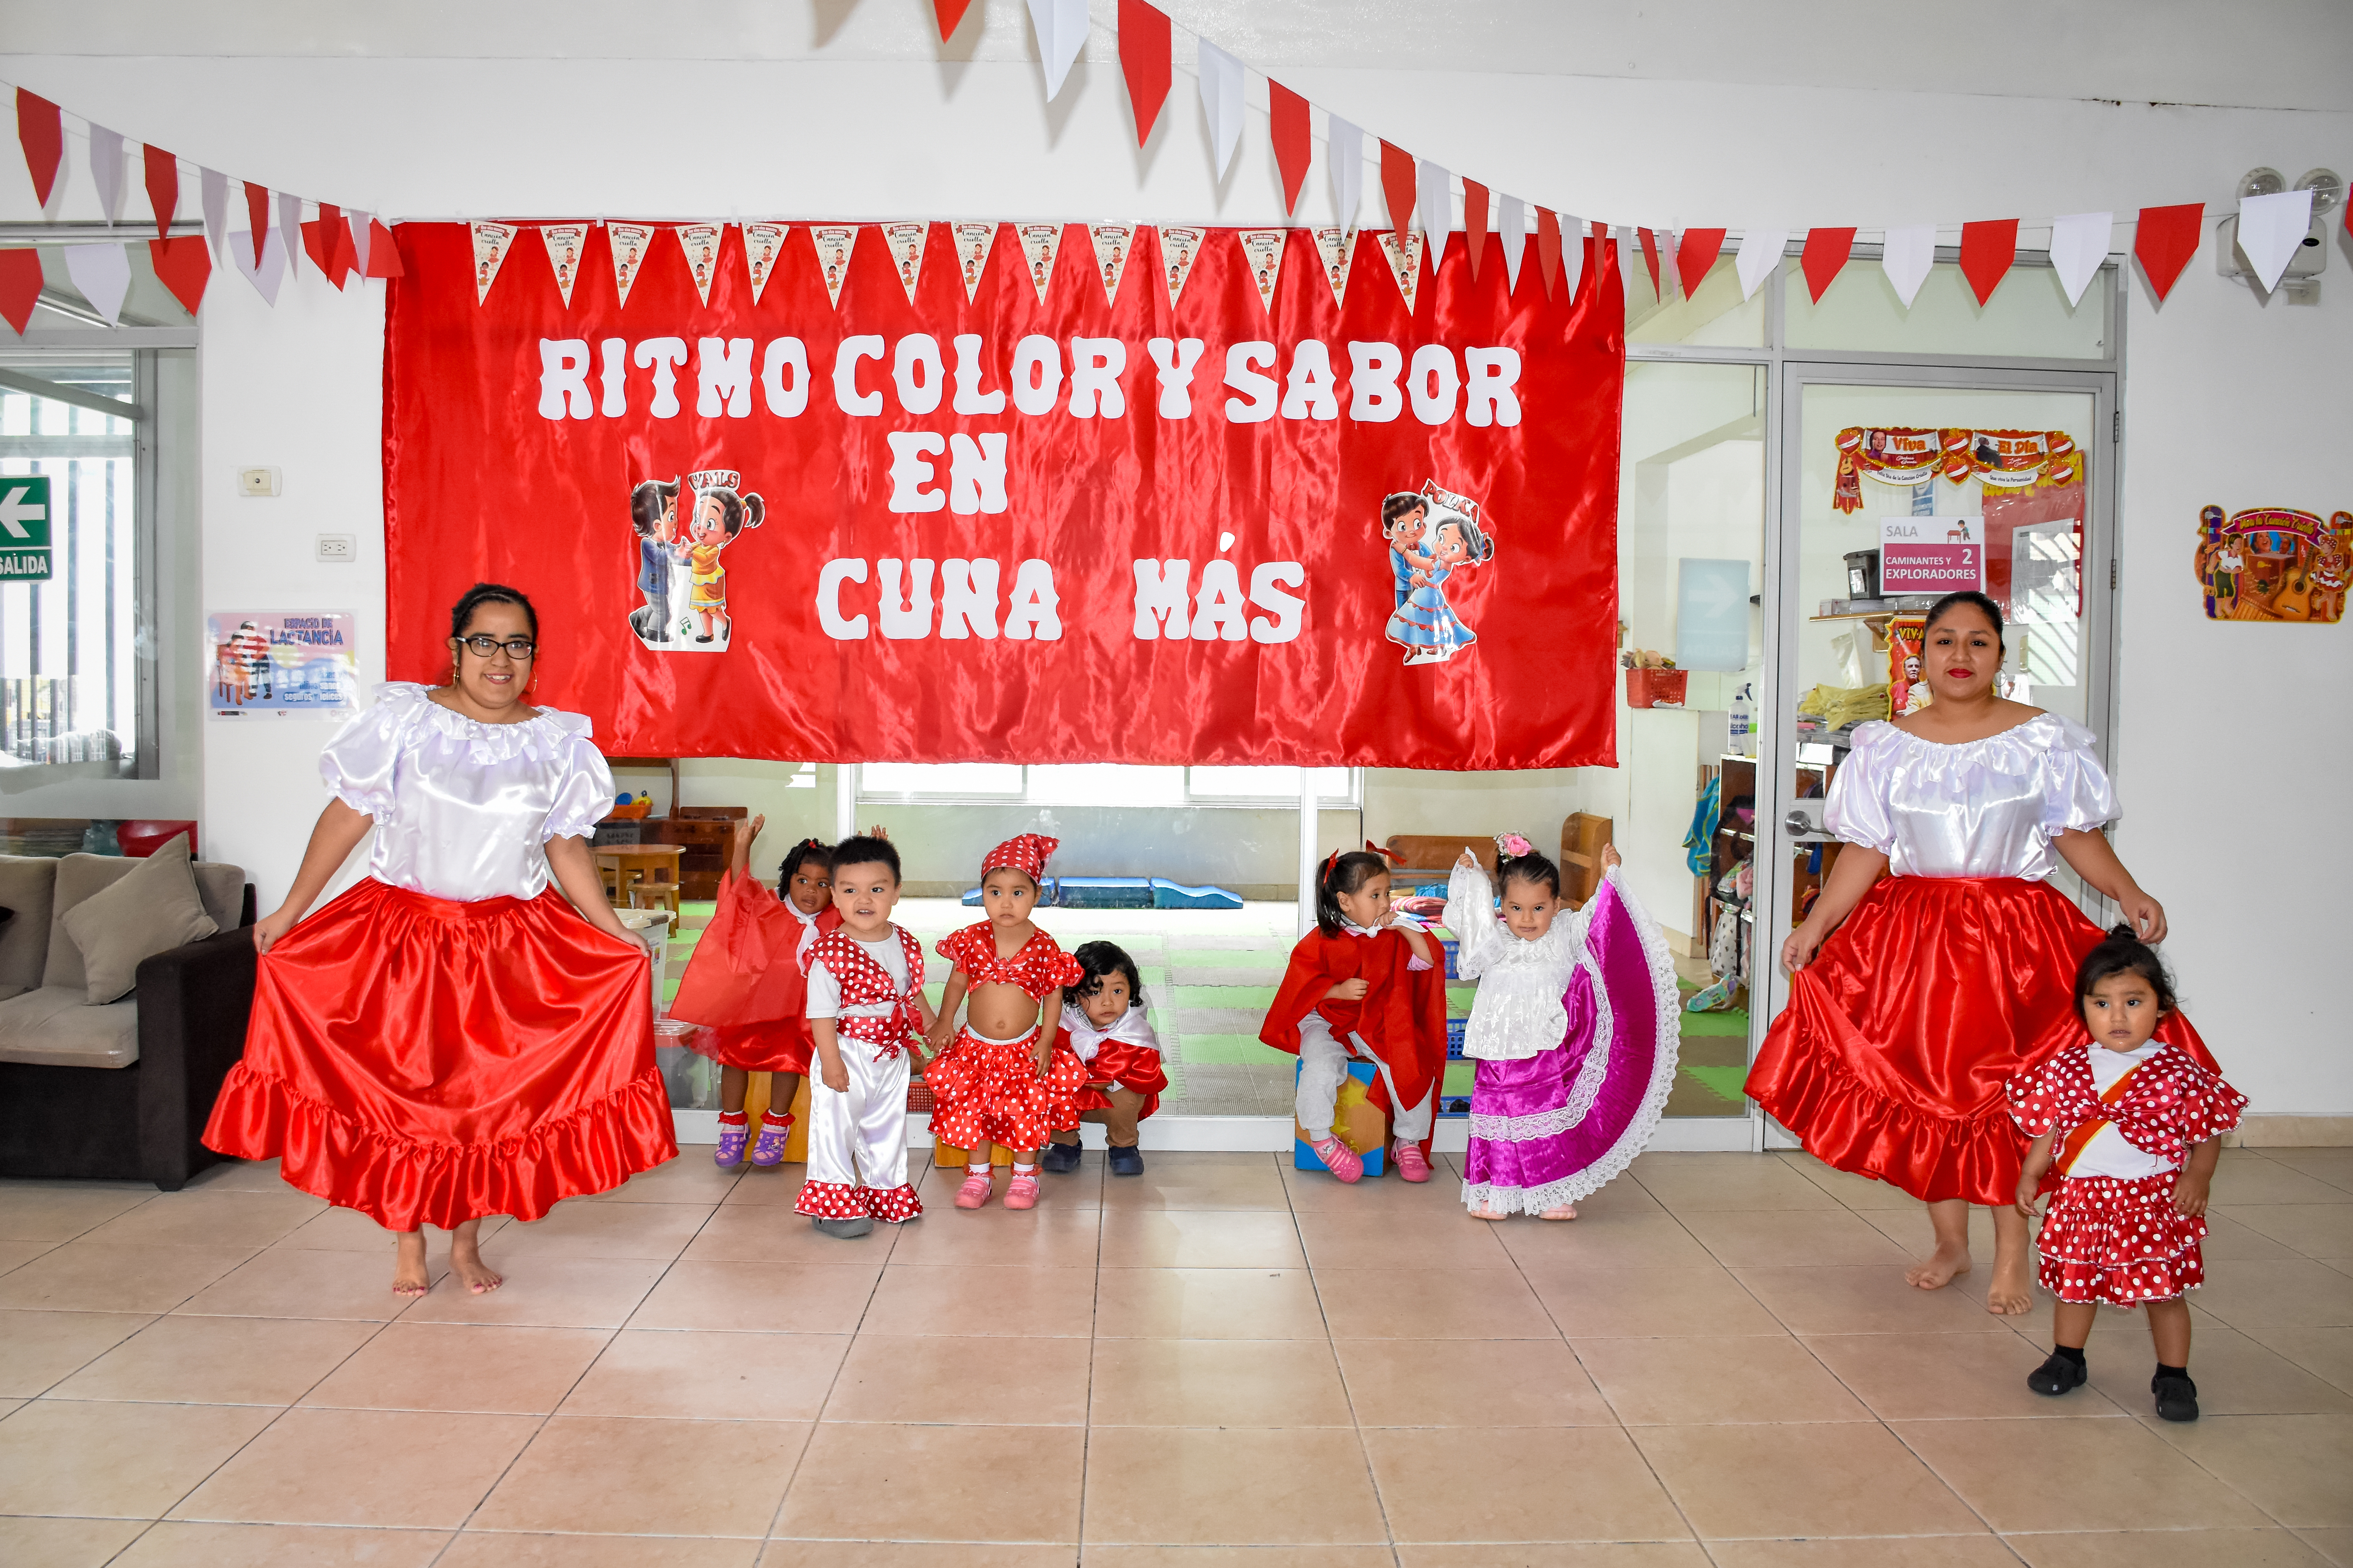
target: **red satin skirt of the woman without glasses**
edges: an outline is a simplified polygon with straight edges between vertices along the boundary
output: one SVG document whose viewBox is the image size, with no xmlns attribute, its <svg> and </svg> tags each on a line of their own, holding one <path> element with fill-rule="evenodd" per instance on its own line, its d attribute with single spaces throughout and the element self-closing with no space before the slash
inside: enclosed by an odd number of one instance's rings
<svg viewBox="0 0 2353 1568">
<path fill-rule="evenodd" d="M 1885 877 L 1791 976 L 1748 1093 L 1828 1166 L 2012 1204 L 2028 1140 L 2005 1088 L 2082 1044 L 2075 969 L 2101 936 L 2045 882 Z M 2214 1065 L 2181 1013 L 2158 1039 Z"/>
</svg>

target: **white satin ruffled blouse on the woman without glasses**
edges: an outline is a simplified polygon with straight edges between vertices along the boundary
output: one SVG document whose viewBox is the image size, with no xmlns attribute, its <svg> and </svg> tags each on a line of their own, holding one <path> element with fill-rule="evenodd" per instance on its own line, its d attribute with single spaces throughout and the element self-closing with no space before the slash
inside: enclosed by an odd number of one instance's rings
<svg viewBox="0 0 2353 1568">
<path fill-rule="evenodd" d="M 2059 870 L 2054 835 L 2118 816 L 2094 745 L 2089 729 L 2054 712 L 1958 745 L 1859 724 L 1821 823 L 1887 856 L 1897 877 L 2042 882 Z"/>
</svg>

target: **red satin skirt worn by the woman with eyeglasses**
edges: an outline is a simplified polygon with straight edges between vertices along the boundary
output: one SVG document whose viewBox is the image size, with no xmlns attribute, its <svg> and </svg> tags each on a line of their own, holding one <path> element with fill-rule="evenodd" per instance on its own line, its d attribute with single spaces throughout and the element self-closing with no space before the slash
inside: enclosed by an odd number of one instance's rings
<svg viewBox="0 0 2353 1568">
<path fill-rule="evenodd" d="M 678 1157 L 647 964 L 555 889 L 360 882 L 261 954 L 205 1145 L 386 1229 L 619 1187 Z"/>
</svg>

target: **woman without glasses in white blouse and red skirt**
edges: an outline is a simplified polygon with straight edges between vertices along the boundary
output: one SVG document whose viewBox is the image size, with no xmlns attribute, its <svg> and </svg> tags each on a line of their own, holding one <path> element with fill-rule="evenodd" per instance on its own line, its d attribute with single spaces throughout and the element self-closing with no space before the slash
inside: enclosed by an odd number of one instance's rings
<svg viewBox="0 0 2353 1568">
<path fill-rule="evenodd" d="M 2002 651 L 1993 599 L 1937 599 L 1932 703 L 1857 726 L 1824 806 L 1845 846 L 1781 945 L 1788 1006 L 1748 1093 L 1824 1164 L 1927 1201 L 1937 1251 L 1908 1274 L 1922 1291 L 1969 1269 L 1969 1204 L 1991 1208 L 1986 1309 L 2014 1316 L 2033 1260 L 2005 1086 L 2082 1037 L 2068 983 L 2101 940 L 2049 875 L 2071 865 L 2148 943 L 2165 907 L 2101 832 L 2118 806 L 2092 731 L 1998 696 Z M 2160 1037 L 2212 1067 L 2181 1013 Z"/>
</svg>

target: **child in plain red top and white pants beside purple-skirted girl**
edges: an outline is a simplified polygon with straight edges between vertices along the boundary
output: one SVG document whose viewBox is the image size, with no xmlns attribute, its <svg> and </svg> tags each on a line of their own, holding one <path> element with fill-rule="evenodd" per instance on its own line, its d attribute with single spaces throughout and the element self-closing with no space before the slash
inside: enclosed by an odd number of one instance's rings
<svg viewBox="0 0 2353 1568">
<path fill-rule="evenodd" d="M 1332 1175 L 1365 1175 L 1358 1152 L 1332 1133 L 1353 1058 L 1377 1070 L 1365 1098 L 1388 1112 L 1398 1175 L 1431 1180 L 1428 1143 L 1447 1070 L 1445 966 L 1421 924 L 1388 907 L 1388 863 L 1379 853 L 1351 849 L 1325 860 L 1315 929 L 1292 947 L 1259 1039 L 1299 1058 L 1299 1128 Z"/>
</svg>

